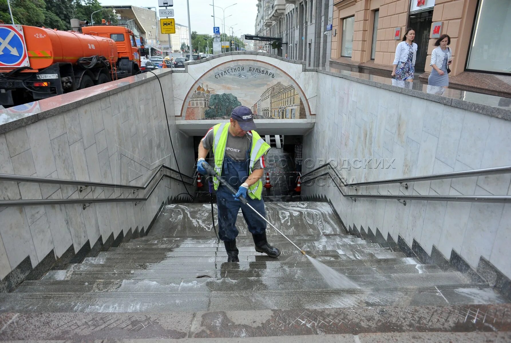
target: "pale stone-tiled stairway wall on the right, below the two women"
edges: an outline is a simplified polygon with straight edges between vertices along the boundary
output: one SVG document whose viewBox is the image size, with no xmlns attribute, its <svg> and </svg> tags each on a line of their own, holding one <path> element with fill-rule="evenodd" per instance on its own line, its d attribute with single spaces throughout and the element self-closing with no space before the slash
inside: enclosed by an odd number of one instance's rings
<svg viewBox="0 0 511 343">
<path fill-rule="evenodd" d="M 334 159 L 350 182 L 430 175 L 511 164 L 511 121 L 318 73 L 316 125 L 304 139 L 304 163 Z M 360 168 L 341 169 L 341 160 Z M 374 160 L 395 159 L 389 168 Z M 323 162 L 324 163 L 324 162 Z M 314 164 L 314 166 L 313 166 Z M 384 164 L 386 167 L 388 163 Z M 371 167 L 372 166 L 372 167 Z M 361 187 L 360 194 L 511 195 L 511 175 Z M 355 192 L 355 190 L 350 190 Z M 476 268 L 482 256 L 511 277 L 511 204 L 361 200 L 342 198 L 334 186 L 303 187 L 326 195 L 344 224 L 378 228 L 395 241 L 413 239 L 447 259 L 455 250 Z"/>
</svg>

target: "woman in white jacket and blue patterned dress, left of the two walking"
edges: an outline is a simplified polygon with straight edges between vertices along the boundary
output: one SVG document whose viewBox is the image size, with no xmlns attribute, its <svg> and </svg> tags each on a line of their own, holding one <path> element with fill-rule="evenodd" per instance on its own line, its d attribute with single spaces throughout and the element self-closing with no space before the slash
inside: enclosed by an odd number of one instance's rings
<svg viewBox="0 0 511 343">
<path fill-rule="evenodd" d="M 415 73 L 415 57 L 417 56 L 417 44 L 413 42 L 415 31 L 406 29 L 403 40 L 396 47 L 396 56 L 392 63 L 392 79 L 397 81 L 413 82 Z"/>
</svg>

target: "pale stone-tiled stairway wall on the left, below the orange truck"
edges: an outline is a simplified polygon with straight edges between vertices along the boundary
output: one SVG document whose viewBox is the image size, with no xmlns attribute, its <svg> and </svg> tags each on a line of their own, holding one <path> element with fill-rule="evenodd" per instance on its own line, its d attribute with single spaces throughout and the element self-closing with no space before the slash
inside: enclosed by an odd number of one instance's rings
<svg viewBox="0 0 511 343">
<path fill-rule="evenodd" d="M 192 175 L 193 142 L 177 131 L 172 73 L 160 75 L 174 148 L 183 173 Z M 86 91 L 86 90 L 83 90 Z M 79 91 L 81 92 L 81 91 Z M 75 92 L 77 93 L 77 92 Z M 63 96 L 73 96 L 75 93 Z M 109 94 L 112 92 L 109 92 Z M 157 80 L 124 87 L 78 108 L 0 134 L 0 173 L 143 185 L 160 164 L 176 168 Z M 0 279 L 27 256 L 35 267 L 54 250 L 94 246 L 113 233 L 148 227 L 162 202 L 183 192 L 164 179 L 147 202 L 0 208 Z M 0 199 L 130 198 L 144 191 L 1 182 Z"/>
</svg>

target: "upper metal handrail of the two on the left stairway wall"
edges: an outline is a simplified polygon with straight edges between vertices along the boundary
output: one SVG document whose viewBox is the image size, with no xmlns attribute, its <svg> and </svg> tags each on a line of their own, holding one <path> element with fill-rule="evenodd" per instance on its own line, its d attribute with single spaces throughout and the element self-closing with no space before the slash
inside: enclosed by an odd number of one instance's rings
<svg viewBox="0 0 511 343">
<path fill-rule="evenodd" d="M 171 170 L 174 173 L 185 176 L 192 180 L 192 178 L 188 175 L 184 175 L 179 173 L 179 171 L 166 166 L 165 164 L 160 164 L 157 168 L 155 168 L 155 172 L 151 176 L 151 178 L 143 185 L 143 186 L 134 186 L 134 185 L 122 185 L 108 182 L 92 182 L 92 181 L 80 181 L 80 180 L 67 180 L 67 179 L 54 179 L 54 178 L 39 178 L 34 176 L 24 176 L 24 175 L 11 175 L 11 174 L 0 174 L 0 180 L 2 181 L 17 181 L 17 182 L 35 182 L 35 183 L 51 183 L 51 184 L 61 184 L 61 185 L 74 185 L 74 186 L 90 186 L 90 187 L 104 187 L 104 188 L 130 188 L 130 189 L 146 189 L 149 184 L 156 177 L 158 172 L 165 168 L 167 170 Z M 178 180 L 181 181 L 181 180 Z M 193 186 L 193 183 L 185 182 Z"/>
</svg>

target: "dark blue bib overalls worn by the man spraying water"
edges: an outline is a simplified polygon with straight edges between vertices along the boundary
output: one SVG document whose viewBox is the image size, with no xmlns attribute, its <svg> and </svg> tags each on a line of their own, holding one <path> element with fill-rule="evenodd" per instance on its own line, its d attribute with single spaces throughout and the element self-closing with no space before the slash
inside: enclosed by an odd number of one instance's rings
<svg viewBox="0 0 511 343">
<path fill-rule="evenodd" d="M 221 178 L 227 181 L 236 190 L 248 178 L 248 161 L 249 155 L 247 152 L 247 160 L 238 162 L 228 157 L 224 158 L 223 171 Z M 256 211 L 263 217 L 266 217 L 264 210 L 263 200 L 251 199 L 247 193 L 247 201 Z M 240 201 L 236 200 L 226 187 L 219 185 L 217 189 L 217 205 L 218 205 L 218 236 L 221 240 L 229 242 L 239 234 L 236 228 L 236 219 L 238 218 L 238 211 L 241 207 L 241 213 L 247 223 L 248 231 L 254 234 L 262 234 L 266 231 L 266 222 L 259 215 L 255 214 L 251 208 L 243 205 Z"/>
</svg>

